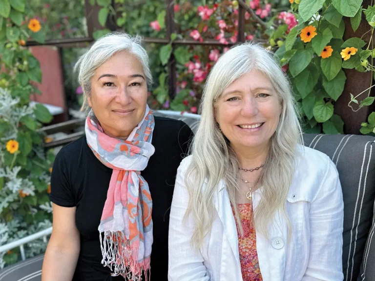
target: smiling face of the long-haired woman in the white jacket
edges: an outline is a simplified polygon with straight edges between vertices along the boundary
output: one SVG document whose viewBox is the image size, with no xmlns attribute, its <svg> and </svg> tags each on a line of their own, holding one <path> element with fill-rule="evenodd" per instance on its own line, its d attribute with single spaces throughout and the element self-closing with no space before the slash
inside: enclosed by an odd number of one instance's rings
<svg viewBox="0 0 375 281">
<path fill-rule="evenodd" d="M 227 87 L 215 104 L 215 119 L 234 147 L 268 145 L 275 133 L 282 104 L 271 81 L 250 71 Z"/>
</svg>

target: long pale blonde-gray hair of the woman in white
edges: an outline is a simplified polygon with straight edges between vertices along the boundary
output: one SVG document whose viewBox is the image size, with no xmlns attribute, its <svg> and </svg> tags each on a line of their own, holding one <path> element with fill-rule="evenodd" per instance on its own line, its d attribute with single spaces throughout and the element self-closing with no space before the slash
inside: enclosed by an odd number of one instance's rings
<svg viewBox="0 0 375 281">
<path fill-rule="evenodd" d="M 195 230 L 192 245 L 198 249 L 210 231 L 215 216 L 213 196 L 218 192 L 220 180 L 226 183 L 229 199 L 239 222 L 235 194 L 239 186 L 238 160 L 228 140 L 219 131 L 214 117 L 215 101 L 234 80 L 251 70 L 267 76 L 282 103 L 282 113 L 276 132 L 271 137 L 267 160 L 257 186 L 262 186 L 261 200 L 254 210 L 257 232 L 268 237 L 268 224 L 280 210 L 291 223 L 286 211 L 286 200 L 295 169 L 296 148 L 302 143 L 299 118 L 294 107 L 291 86 L 280 66 L 263 47 L 245 43 L 230 49 L 213 66 L 202 97 L 202 118 L 194 137 L 190 154 L 192 161 L 187 168 L 185 182 L 190 196 L 185 218 L 192 215 Z M 205 188 L 202 188 L 206 181 Z M 241 225 L 239 223 L 239 225 Z M 241 228 L 242 232 L 242 228 Z"/>
</svg>

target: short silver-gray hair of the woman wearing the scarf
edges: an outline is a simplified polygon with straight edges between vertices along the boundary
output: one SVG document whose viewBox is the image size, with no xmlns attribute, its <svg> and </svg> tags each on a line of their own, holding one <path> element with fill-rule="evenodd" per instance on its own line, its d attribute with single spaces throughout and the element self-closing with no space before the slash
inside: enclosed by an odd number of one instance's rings
<svg viewBox="0 0 375 281">
<path fill-rule="evenodd" d="M 125 33 L 110 33 L 97 40 L 78 60 L 74 71 L 79 69 L 78 81 L 83 89 L 82 109 L 88 109 L 87 97 L 91 94 L 91 78 L 95 70 L 120 51 L 129 51 L 142 63 L 146 75 L 147 87 L 152 85 L 152 75 L 148 65 L 148 55 L 141 45 L 141 37 L 132 37 Z"/>
</svg>

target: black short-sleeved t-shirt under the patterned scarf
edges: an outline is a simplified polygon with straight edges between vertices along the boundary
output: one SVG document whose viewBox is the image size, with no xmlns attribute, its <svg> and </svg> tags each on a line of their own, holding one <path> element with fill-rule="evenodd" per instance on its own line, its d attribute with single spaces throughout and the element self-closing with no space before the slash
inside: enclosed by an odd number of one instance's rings
<svg viewBox="0 0 375 281">
<path fill-rule="evenodd" d="M 192 132 L 182 121 L 154 118 L 151 143 L 155 153 L 141 175 L 149 185 L 152 198 L 151 278 L 167 281 L 169 208 L 177 168 L 187 154 Z M 101 264 L 98 226 L 111 175 L 112 169 L 94 156 L 85 136 L 63 147 L 54 162 L 50 200 L 63 207 L 77 207 L 81 249 L 74 281 L 124 281 L 121 276 L 111 277 L 110 269 Z"/>
</svg>

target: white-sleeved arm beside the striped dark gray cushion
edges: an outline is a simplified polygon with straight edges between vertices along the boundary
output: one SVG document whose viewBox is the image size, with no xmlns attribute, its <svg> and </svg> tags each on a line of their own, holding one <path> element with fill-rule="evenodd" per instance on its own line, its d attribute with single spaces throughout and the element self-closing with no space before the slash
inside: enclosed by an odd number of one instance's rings
<svg viewBox="0 0 375 281">
<path fill-rule="evenodd" d="M 310 257 L 302 281 L 342 281 L 344 202 L 336 166 L 328 169 L 310 206 Z"/>
</svg>

